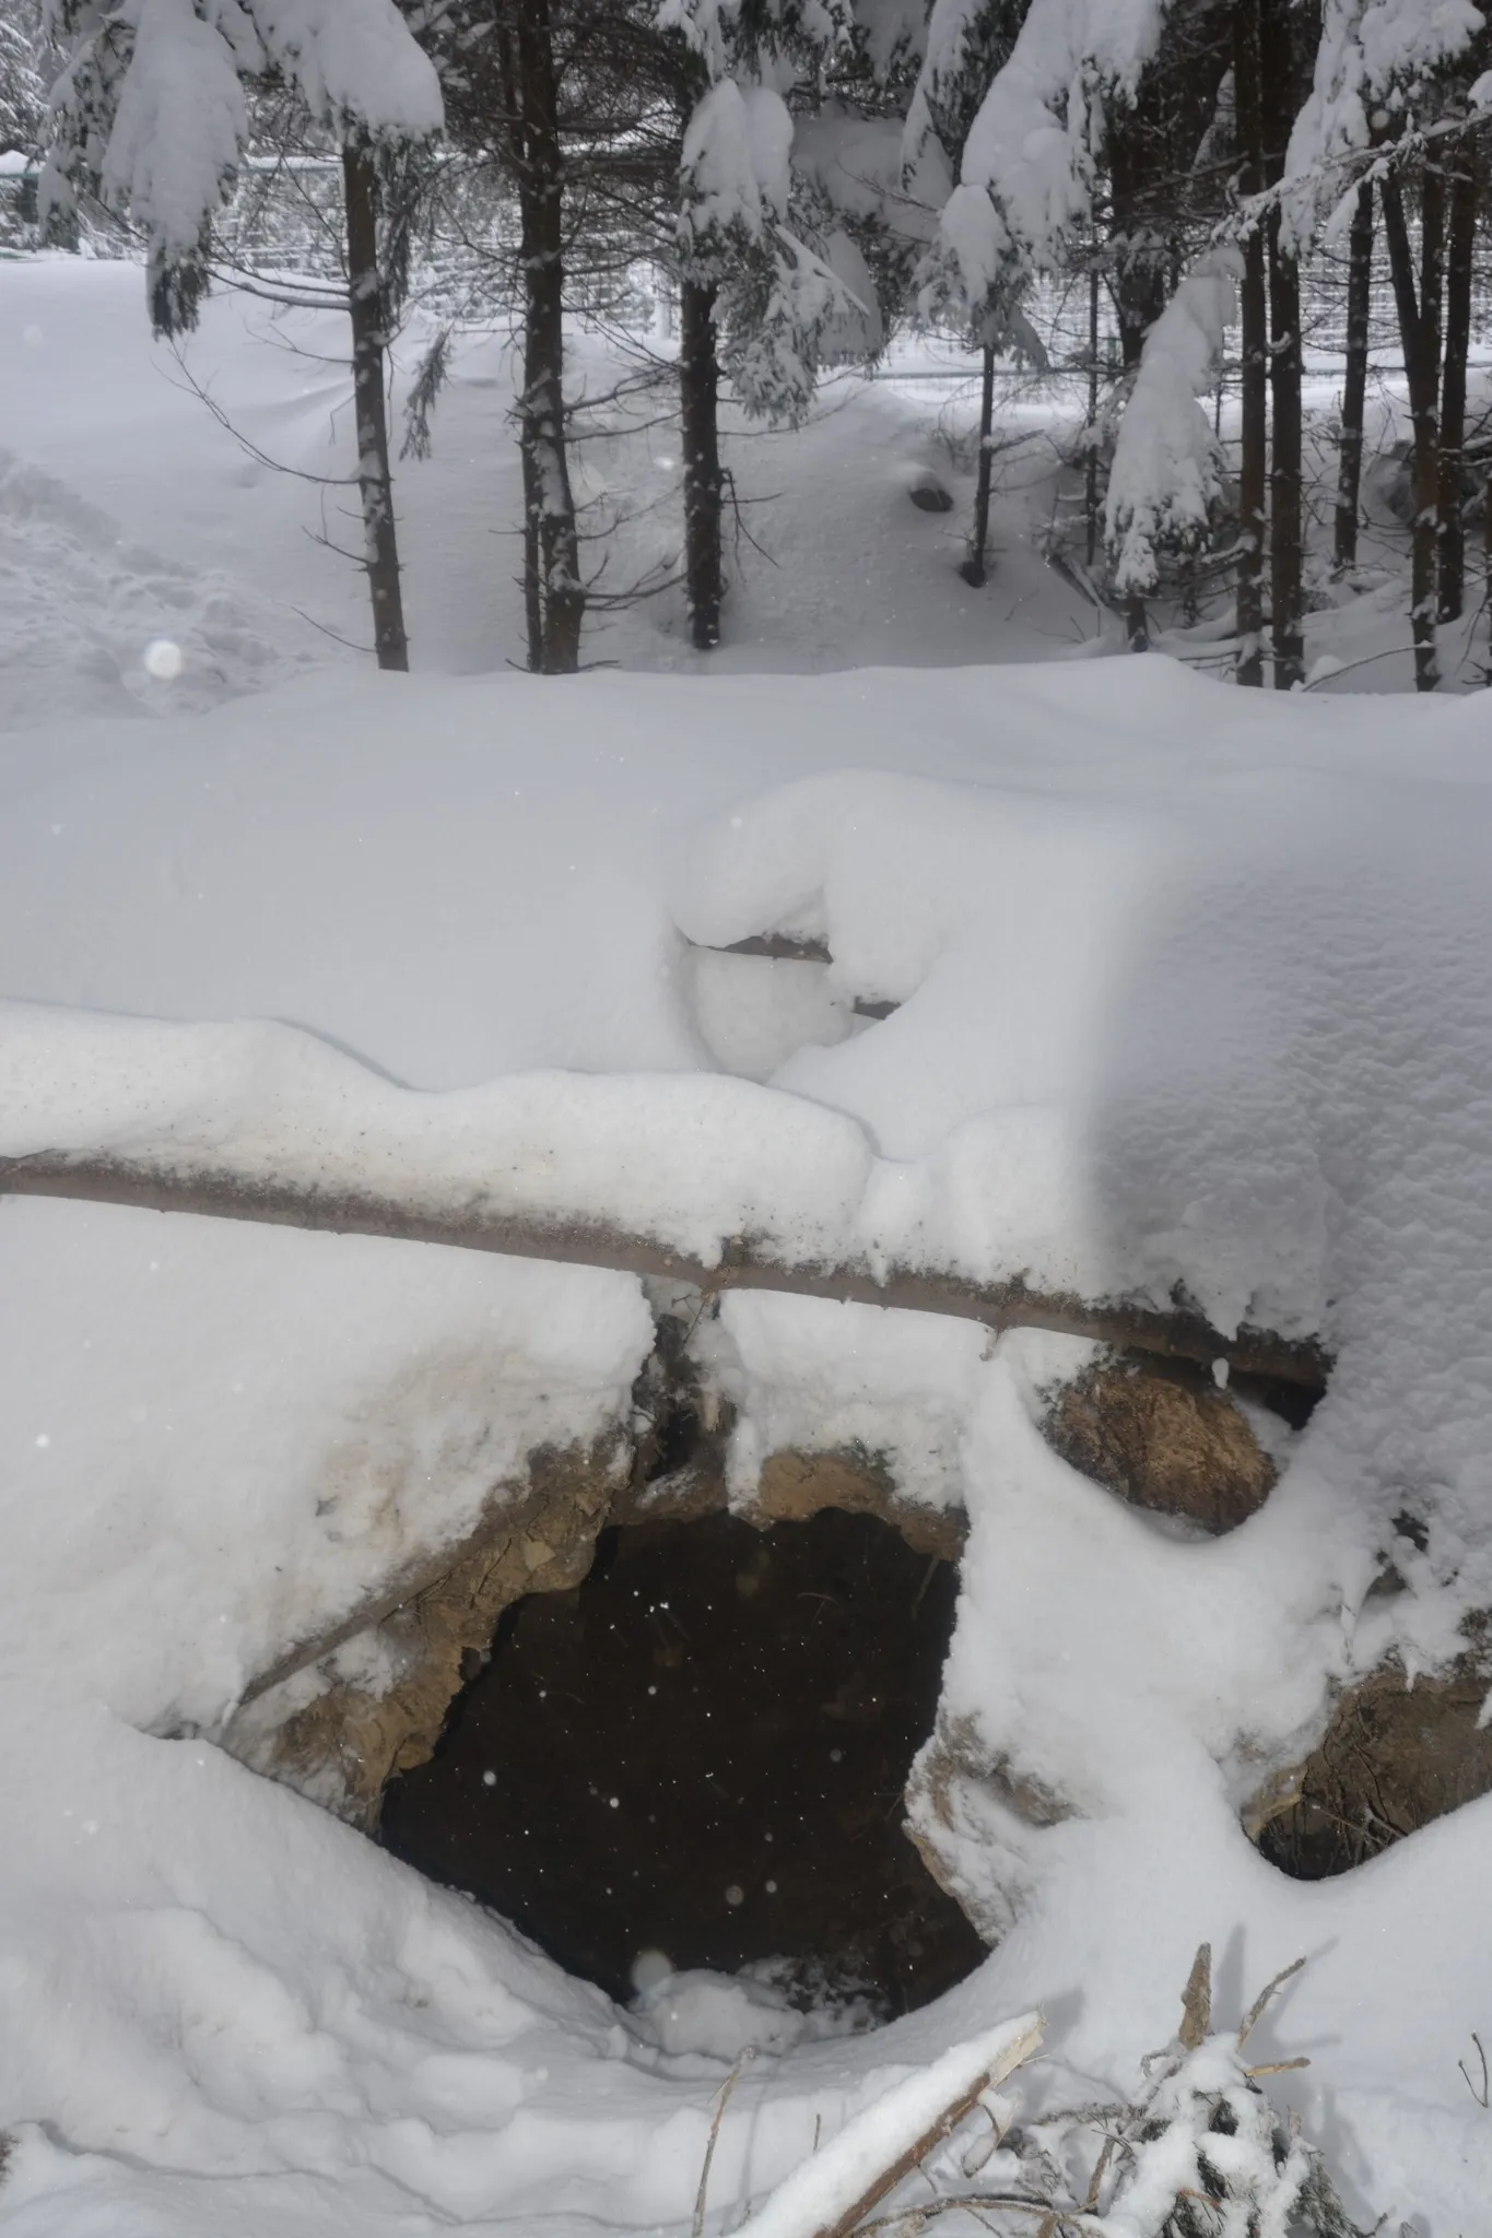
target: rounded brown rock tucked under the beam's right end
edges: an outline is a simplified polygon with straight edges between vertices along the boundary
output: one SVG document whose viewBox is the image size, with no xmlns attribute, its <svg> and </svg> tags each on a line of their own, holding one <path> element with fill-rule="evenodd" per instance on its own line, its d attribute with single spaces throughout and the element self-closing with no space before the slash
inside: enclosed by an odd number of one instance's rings
<svg viewBox="0 0 1492 2238">
<path fill-rule="evenodd" d="M 1051 1401 L 1042 1435 L 1132 1506 L 1235 1531 L 1268 1499 L 1275 1464 L 1248 1417 L 1201 1370 L 1101 1361 Z"/>
</svg>

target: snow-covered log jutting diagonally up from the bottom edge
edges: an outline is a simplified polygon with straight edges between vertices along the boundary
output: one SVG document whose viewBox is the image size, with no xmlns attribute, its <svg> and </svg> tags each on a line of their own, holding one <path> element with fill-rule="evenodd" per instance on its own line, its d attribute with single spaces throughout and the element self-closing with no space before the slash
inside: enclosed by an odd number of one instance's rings
<svg viewBox="0 0 1492 2238">
<path fill-rule="evenodd" d="M 1040 2043 L 1038 2012 L 957 2043 L 931 2068 L 895 2084 L 794 2169 L 736 2238 L 848 2238 L 877 2200 L 895 2191 Z"/>
</svg>

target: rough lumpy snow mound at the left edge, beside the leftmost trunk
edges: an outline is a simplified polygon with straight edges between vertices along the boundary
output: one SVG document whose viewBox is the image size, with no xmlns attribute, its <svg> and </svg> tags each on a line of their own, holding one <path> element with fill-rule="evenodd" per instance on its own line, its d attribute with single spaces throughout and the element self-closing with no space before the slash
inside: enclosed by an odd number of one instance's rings
<svg viewBox="0 0 1492 2238">
<path fill-rule="evenodd" d="M 67 483 L 0 452 L 0 727 L 201 714 L 306 667 L 309 636 L 233 577 L 130 544 Z"/>
</svg>

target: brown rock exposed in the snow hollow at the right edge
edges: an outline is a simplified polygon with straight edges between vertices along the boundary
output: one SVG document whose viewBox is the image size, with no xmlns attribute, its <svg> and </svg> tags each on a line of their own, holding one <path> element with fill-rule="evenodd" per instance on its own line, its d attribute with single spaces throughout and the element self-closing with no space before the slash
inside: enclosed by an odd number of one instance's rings
<svg viewBox="0 0 1492 2238">
<path fill-rule="evenodd" d="M 1391 1658 L 1338 1699 L 1304 1764 L 1253 1797 L 1244 1831 L 1293 1880 L 1329 1880 L 1492 1793 L 1490 1687 L 1485 1638 L 1414 1685 Z"/>
</svg>

